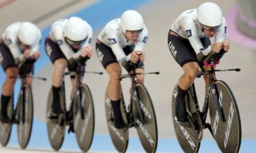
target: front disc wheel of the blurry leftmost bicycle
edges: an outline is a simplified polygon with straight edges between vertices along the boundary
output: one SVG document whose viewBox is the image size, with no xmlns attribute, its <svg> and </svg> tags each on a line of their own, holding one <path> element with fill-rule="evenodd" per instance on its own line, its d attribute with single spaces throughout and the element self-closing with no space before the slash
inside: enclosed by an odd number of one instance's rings
<svg viewBox="0 0 256 153">
<path fill-rule="evenodd" d="M 33 125 L 33 95 L 27 84 L 20 90 L 16 114 L 18 143 L 24 149 L 29 143 Z"/>
</svg>

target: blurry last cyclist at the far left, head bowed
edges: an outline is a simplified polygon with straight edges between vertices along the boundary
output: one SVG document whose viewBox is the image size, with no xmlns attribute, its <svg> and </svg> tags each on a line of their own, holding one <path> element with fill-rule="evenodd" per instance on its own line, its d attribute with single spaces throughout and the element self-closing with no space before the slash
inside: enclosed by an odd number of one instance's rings
<svg viewBox="0 0 256 153">
<path fill-rule="evenodd" d="M 33 63 L 40 57 L 41 31 L 31 22 L 14 22 L 5 29 L 0 39 L 1 66 L 5 71 L 5 82 L 1 92 L 1 122 L 8 122 L 8 103 L 14 92 L 18 73 L 27 74 L 26 82 L 31 86 L 33 80 Z M 30 67 L 18 71 L 18 67 Z"/>
</svg>

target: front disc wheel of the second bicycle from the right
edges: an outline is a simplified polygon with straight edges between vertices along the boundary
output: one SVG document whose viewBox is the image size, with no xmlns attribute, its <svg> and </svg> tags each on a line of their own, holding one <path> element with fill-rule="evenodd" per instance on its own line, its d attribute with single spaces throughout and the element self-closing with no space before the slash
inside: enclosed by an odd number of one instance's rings
<svg viewBox="0 0 256 153">
<path fill-rule="evenodd" d="M 149 92 L 147 92 L 147 88 L 145 88 L 143 84 L 137 84 L 136 88 L 139 101 L 133 101 L 133 113 L 137 133 L 144 150 L 146 152 L 156 152 L 158 144 L 158 128 L 154 105 Z M 139 108 L 136 103 L 139 103 Z M 142 113 L 143 122 L 141 117 L 139 117 L 138 111 Z"/>
</svg>

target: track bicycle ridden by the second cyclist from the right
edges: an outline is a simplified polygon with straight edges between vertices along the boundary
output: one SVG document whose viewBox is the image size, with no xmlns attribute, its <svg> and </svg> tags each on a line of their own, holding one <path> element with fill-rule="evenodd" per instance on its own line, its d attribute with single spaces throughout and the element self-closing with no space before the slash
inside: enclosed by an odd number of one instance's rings
<svg viewBox="0 0 256 153">
<path fill-rule="evenodd" d="M 105 95 L 106 123 L 109 129 L 109 134 L 116 150 L 118 152 L 126 152 L 129 139 L 128 129 L 134 127 L 137 129 L 139 139 L 145 152 L 156 152 L 158 144 L 158 128 L 154 105 L 145 85 L 137 82 L 137 75 L 159 74 L 159 72 L 136 73 L 135 69 L 138 67 L 138 64 L 131 64 L 130 67 L 132 67 L 132 73 L 122 75 L 119 79 L 120 81 L 124 78 L 132 79 L 130 104 L 128 105 L 128 109 L 126 109 L 123 95 L 121 98 L 120 109 L 124 123 L 126 124 L 126 127 L 123 129 L 115 128 L 111 101 L 107 92 Z"/>
</svg>

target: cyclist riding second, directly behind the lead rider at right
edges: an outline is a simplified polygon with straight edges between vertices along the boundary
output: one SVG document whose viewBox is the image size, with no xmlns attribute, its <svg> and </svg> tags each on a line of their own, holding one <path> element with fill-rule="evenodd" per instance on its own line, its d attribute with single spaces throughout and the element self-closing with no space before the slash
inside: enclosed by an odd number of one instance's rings
<svg viewBox="0 0 256 153">
<path fill-rule="evenodd" d="M 122 74 L 122 66 L 130 72 L 130 63 L 141 61 L 137 67 L 137 73 L 143 73 L 145 52 L 143 47 L 147 42 L 147 27 L 139 12 L 127 10 L 115 20 L 106 24 L 96 40 L 96 53 L 104 69 L 109 74 L 107 92 L 113 107 L 114 122 L 117 129 L 124 128 L 124 120 L 120 111 L 122 87 L 119 78 Z M 144 76 L 138 75 L 138 82 L 143 83 Z"/>
</svg>

